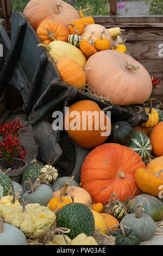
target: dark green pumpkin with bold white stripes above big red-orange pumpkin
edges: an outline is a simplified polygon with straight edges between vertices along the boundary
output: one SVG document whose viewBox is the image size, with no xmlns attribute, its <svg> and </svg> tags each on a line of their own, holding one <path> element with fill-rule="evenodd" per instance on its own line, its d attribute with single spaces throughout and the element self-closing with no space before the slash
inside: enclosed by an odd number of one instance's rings
<svg viewBox="0 0 163 256">
<path fill-rule="evenodd" d="M 133 137 L 130 139 L 126 146 L 133 149 L 145 161 L 149 158 L 152 152 L 152 144 L 150 139 L 145 133 L 140 131 L 134 131 Z"/>
</svg>

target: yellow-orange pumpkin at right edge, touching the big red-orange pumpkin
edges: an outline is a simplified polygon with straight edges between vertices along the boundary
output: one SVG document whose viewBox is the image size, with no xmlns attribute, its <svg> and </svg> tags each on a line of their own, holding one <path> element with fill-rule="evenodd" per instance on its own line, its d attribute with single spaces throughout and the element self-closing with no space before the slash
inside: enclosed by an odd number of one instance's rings
<svg viewBox="0 0 163 256">
<path fill-rule="evenodd" d="M 137 186 L 142 192 L 159 197 L 159 193 L 163 187 L 163 175 L 161 175 L 162 172 L 163 169 L 159 170 L 158 173 L 146 168 L 137 169 L 135 172 Z"/>
</svg>

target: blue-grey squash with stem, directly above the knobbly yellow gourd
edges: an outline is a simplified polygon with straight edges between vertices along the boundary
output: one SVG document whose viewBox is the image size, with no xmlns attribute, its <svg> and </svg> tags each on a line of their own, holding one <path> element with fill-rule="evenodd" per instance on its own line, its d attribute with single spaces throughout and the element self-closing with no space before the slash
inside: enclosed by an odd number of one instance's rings
<svg viewBox="0 0 163 256">
<path fill-rule="evenodd" d="M 20 199 L 21 204 L 40 204 L 43 206 L 46 206 L 53 198 L 53 190 L 51 187 L 42 184 L 40 186 L 37 186 L 34 188 L 33 191 L 27 191 L 23 194 L 23 196 Z"/>
</svg>

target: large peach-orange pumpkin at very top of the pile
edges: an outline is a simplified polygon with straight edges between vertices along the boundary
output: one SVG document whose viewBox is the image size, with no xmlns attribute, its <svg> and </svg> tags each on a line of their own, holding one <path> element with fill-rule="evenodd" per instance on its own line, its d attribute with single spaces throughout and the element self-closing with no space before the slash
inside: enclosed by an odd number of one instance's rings
<svg viewBox="0 0 163 256">
<path fill-rule="evenodd" d="M 64 26 L 80 19 L 72 5 L 60 0 L 31 0 L 23 11 L 33 28 L 37 29 L 41 22 L 54 20 Z"/>
</svg>

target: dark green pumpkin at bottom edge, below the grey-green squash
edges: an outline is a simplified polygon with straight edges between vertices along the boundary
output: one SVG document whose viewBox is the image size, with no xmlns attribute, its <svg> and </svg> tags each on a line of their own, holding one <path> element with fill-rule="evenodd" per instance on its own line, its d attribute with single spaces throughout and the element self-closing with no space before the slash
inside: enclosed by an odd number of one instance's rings
<svg viewBox="0 0 163 256">
<path fill-rule="evenodd" d="M 124 233 L 121 229 L 116 229 L 110 233 L 116 239 L 116 245 L 140 245 L 140 240 L 135 232 L 128 228 L 123 228 Z"/>
</svg>

